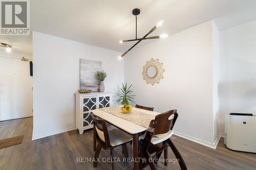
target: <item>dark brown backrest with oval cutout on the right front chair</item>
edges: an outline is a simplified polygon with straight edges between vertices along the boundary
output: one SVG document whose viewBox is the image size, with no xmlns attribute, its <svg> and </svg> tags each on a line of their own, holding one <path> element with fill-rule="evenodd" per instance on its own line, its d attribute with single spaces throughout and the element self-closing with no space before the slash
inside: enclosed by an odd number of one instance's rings
<svg viewBox="0 0 256 170">
<path fill-rule="evenodd" d="M 169 130 L 173 130 L 177 117 L 178 113 L 176 109 L 156 115 L 155 135 L 167 133 Z"/>
</svg>

